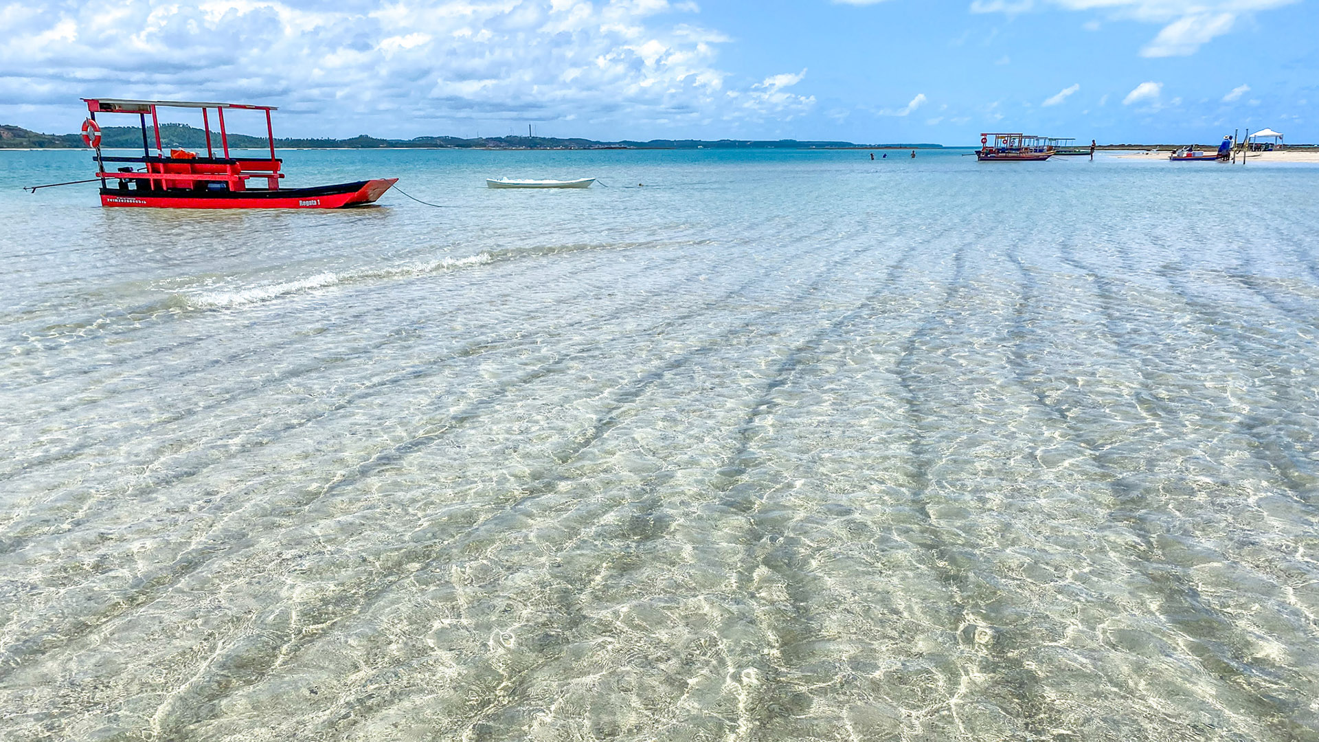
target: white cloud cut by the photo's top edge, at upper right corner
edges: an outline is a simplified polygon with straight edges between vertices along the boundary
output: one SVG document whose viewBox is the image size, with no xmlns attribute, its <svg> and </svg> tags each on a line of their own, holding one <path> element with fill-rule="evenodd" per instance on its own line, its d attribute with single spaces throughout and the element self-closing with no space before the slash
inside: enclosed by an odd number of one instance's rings
<svg viewBox="0 0 1319 742">
<path fill-rule="evenodd" d="M 1163 28 L 1141 49 L 1142 57 L 1184 57 L 1232 30 L 1246 15 L 1299 0 L 973 0 L 972 13 L 1024 13 L 1063 8 L 1096 11 L 1109 18 L 1137 20 Z M 1088 26 L 1087 26 L 1088 28 Z M 1097 26 L 1096 26 L 1097 28 Z"/>
</svg>

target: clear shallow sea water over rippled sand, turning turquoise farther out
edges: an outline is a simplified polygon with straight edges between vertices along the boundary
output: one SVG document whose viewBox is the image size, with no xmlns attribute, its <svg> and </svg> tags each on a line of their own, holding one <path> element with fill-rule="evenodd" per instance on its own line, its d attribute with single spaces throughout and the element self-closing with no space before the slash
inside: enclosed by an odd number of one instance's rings
<svg viewBox="0 0 1319 742">
<path fill-rule="evenodd" d="M 1319 169 L 863 156 L 5 195 L 0 738 L 1319 739 Z"/>
</svg>

